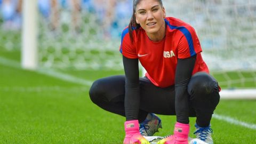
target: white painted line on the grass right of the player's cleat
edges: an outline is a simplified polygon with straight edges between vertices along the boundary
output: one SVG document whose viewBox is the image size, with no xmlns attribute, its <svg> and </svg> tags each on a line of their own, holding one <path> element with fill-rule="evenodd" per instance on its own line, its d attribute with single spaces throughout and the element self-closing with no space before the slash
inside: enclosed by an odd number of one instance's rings
<svg viewBox="0 0 256 144">
<path fill-rule="evenodd" d="M 248 129 L 256 130 L 256 124 L 250 124 L 243 121 L 238 121 L 237 119 L 231 118 L 229 116 L 213 114 L 212 117 L 215 119 L 219 119 L 220 121 L 225 121 L 229 124 L 239 125 L 239 126 L 247 127 Z"/>
</svg>

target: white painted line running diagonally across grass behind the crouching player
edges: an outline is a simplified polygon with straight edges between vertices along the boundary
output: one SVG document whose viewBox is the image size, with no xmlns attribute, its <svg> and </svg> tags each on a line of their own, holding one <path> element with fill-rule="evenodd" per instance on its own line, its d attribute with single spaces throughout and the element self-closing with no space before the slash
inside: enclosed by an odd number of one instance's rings
<svg viewBox="0 0 256 144">
<path fill-rule="evenodd" d="M 5 59 L 3 57 L 0 57 L 0 63 L 2 65 L 5 66 L 10 66 L 10 67 L 14 67 L 14 68 L 20 68 L 20 63 L 14 60 L 9 60 L 9 59 Z M 60 73 L 58 71 L 54 71 L 54 70 L 49 70 L 49 69 L 39 69 L 37 70 L 37 73 L 39 74 L 44 74 L 44 75 L 48 75 L 54 78 L 59 78 L 63 81 L 67 81 L 67 82 L 73 82 L 73 83 L 77 83 L 77 84 L 82 84 L 82 85 L 87 85 L 87 86 L 91 86 L 92 82 L 91 81 L 87 81 L 85 79 L 81 79 L 81 78 L 77 78 L 68 74 L 63 74 Z M 225 121 L 229 124 L 234 124 L 234 125 L 239 125 L 239 126 L 243 126 L 243 127 L 247 127 L 249 129 L 253 129 L 256 130 L 256 125 L 255 124 L 250 124 L 250 123 L 245 123 L 242 121 L 238 121 L 234 118 L 228 117 L 228 116 L 222 116 L 222 115 L 218 115 L 218 114 L 214 114 L 213 118 L 215 119 L 219 119 L 221 121 Z"/>
</svg>

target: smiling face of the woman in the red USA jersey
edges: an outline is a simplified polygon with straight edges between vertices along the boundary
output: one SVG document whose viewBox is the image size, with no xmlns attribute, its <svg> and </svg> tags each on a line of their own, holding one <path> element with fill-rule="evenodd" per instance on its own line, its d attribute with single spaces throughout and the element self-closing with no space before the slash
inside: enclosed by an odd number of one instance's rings
<svg viewBox="0 0 256 144">
<path fill-rule="evenodd" d="M 157 34 L 161 28 L 165 28 L 165 9 L 156 0 L 142 0 L 135 10 L 136 22 L 149 35 Z"/>
</svg>

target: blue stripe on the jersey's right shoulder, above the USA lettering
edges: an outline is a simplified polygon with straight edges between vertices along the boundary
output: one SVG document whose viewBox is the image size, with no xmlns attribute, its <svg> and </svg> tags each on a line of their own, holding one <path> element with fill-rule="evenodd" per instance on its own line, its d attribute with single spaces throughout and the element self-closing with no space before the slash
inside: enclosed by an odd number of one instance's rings
<svg viewBox="0 0 256 144">
<path fill-rule="evenodd" d="M 191 36 L 190 32 L 188 31 L 188 29 L 185 28 L 185 27 L 172 26 L 172 25 L 170 25 L 169 21 L 167 21 L 166 19 L 164 19 L 164 20 L 171 29 L 178 29 L 183 33 L 183 35 L 185 35 L 185 37 L 188 41 L 190 55 L 191 56 L 195 55 L 196 52 L 195 52 L 195 49 L 194 49 L 193 39 L 192 39 L 192 36 Z"/>
</svg>

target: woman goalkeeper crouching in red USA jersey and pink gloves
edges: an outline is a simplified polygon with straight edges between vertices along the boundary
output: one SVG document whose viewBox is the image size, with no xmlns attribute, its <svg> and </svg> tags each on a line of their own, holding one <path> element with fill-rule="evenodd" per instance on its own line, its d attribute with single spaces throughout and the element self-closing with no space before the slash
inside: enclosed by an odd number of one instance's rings
<svg viewBox="0 0 256 144">
<path fill-rule="evenodd" d="M 161 0 L 133 1 L 119 49 L 125 76 L 98 79 L 90 98 L 126 117 L 125 144 L 148 143 L 142 135 L 161 127 L 155 114 L 177 117 L 174 134 L 158 143 L 188 143 L 189 117 L 196 117 L 196 137 L 213 143 L 210 121 L 220 99 L 218 82 L 209 75 L 194 28 L 165 15 Z M 139 77 L 139 61 L 145 77 Z"/>
</svg>

